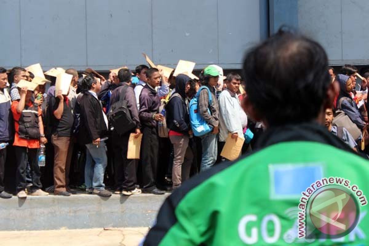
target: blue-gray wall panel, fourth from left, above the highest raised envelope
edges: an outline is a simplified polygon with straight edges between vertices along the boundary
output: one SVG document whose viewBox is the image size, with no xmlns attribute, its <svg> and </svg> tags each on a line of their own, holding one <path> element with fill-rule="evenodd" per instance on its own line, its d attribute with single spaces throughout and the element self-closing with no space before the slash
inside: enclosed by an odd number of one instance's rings
<svg viewBox="0 0 369 246">
<path fill-rule="evenodd" d="M 152 6 L 154 62 L 218 63 L 217 1 L 155 0 Z"/>
</svg>

